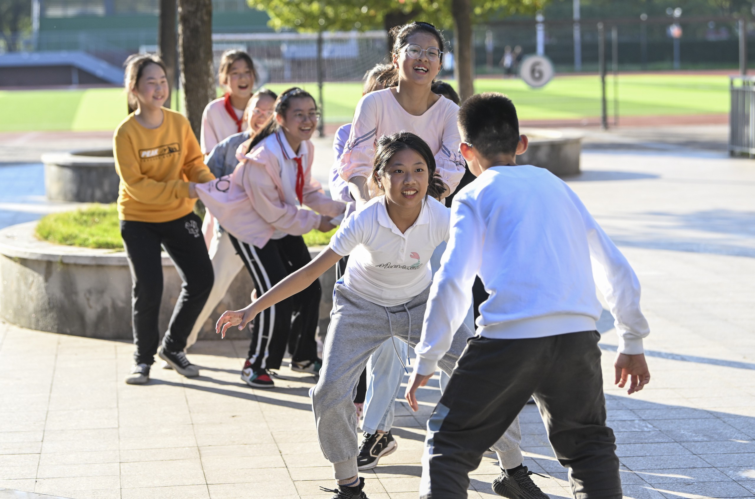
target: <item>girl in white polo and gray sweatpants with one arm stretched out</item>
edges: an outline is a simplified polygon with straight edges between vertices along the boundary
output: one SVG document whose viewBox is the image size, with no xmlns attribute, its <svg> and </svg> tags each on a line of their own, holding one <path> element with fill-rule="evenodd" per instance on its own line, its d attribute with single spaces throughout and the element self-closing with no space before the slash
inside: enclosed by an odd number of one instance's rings
<svg viewBox="0 0 755 499">
<path fill-rule="evenodd" d="M 257 314 L 307 288 L 341 257 L 350 255 L 347 272 L 336 282 L 333 310 L 313 408 L 320 447 L 333 463 L 344 497 L 366 497 L 357 476 L 356 410 L 353 394 L 368 357 L 390 337 L 414 346 L 430 289 L 430 256 L 448 241 L 450 214 L 438 196 L 435 159 L 427 143 L 410 132 L 377 140 L 371 180 L 383 193 L 344 220 L 330 246 L 245 309 L 227 311 L 217 321 L 225 334 L 243 328 Z M 472 332 L 464 325 L 439 366 L 450 374 Z M 494 445 L 519 453 L 519 424 Z M 519 454 L 521 455 L 521 454 Z M 339 492 L 337 490 L 332 490 Z M 341 496 L 338 496 L 341 497 Z"/>
</svg>

